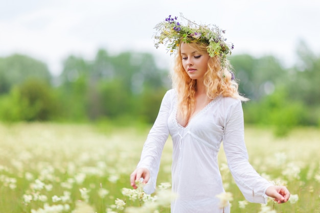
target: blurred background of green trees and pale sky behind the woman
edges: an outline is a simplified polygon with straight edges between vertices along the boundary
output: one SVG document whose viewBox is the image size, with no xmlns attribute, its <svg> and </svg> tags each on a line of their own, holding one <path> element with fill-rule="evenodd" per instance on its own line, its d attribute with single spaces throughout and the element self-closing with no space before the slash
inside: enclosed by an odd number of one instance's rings
<svg viewBox="0 0 320 213">
<path fill-rule="evenodd" d="M 0 121 L 152 124 L 171 57 L 168 15 L 226 30 L 247 125 L 320 126 L 320 2 L 0 0 Z"/>
</svg>

